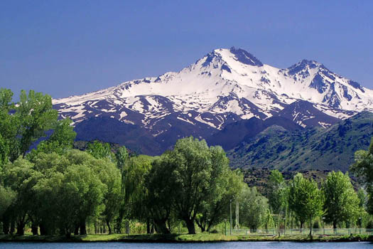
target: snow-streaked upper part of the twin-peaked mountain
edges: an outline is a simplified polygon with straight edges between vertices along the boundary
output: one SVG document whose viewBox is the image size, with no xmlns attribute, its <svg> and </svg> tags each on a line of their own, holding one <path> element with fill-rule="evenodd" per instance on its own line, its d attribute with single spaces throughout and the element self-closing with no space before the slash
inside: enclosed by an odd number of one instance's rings
<svg viewBox="0 0 373 249">
<path fill-rule="evenodd" d="M 221 48 L 177 73 L 131 80 L 53 104 L 75 125 L 113 119 L 135 124 L 153 137 L 187 129 L 181 126 L 188 127 L 185 134 L 200 136 L 252 117 L 281 116 L 302 127 L 329 127 L 362 110 L 373 111 L 373 90 L 314 60 L 280 69 L 242 49 Z"/>
</svg>

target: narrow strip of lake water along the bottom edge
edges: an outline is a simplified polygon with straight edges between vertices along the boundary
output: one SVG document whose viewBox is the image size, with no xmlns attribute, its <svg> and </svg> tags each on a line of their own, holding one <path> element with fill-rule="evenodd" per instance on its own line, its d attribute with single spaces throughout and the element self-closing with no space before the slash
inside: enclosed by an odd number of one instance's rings
<svg viewBox="0 0 373 249">
<path fill-rule="evenodd" d="M 81 248 L 125 248 L 125 249 L 365 249 L 372 243 L 293 243 L 293 242 L 222 242 L 222 243 L 0 243 L 1 249 L 81 249 Z"/>
</svg>

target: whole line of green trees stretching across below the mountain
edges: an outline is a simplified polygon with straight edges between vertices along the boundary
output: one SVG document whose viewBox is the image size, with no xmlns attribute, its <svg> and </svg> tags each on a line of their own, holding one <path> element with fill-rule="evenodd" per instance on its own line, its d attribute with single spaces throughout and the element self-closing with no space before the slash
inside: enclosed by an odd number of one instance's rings
<svg viewBox="0 0 373 249">
<path fill-rule="evenodd" d="M 361 223 L 372 213 L 373 142 L 357 152 L 352 170 L 364 189 L 355 192 L 348 174 L 331 172 L 322 184 L 296 174 L 285 181 L 272 171 L 268 194 L 244 183 L 229 168 L 221 147 L 179 139 L 159 157 L 134 156 L 125 147 L 91 142 L 72 148 L 71 120 L 58 120 L 49 95 L 0 90 L 0 221 L 3 233 L 54 235 L 122 233 L 127 221 L 146 224 L 147 233 L 171 233 L 183 223 L 188 233 L 212 231 L 239 205 L 239 223 L 256 231 L 300 226 L 324 218 L 334 228 Z M 38 144 L 35 147 L 35 144 Z"/>
</svg>

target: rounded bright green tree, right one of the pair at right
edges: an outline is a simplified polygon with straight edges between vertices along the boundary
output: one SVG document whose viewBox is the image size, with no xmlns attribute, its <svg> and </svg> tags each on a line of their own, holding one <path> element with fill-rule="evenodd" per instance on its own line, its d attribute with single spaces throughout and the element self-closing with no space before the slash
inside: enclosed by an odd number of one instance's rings
<svg viewBox="0 0 373 249">
<path fill-rule="evenodd" d="M 354 191 L 348 173 L 342 174 L 341 171 L 329 173 L 323 183 L 323 193 L 325 221 L 333 223 L 334 229 L 337 228 L 337 223 L 357 218 L 360 200 Z"/>
</svg>

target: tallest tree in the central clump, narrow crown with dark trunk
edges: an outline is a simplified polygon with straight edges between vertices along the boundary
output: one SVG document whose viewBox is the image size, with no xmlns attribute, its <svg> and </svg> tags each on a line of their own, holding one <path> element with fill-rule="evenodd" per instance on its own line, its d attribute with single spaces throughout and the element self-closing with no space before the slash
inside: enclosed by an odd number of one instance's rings
<svg viewBox="0 0 373 249">
<path fill-rule="evenodd" d="M 179 139 L 170 152 L 172 179 L 175 181 L 175 211 L 185 221 L 188 233 L 195 234 L 195 217 L 203 201 L 210 197 L 211 152 L 205 140 Z"/>
</svg>

